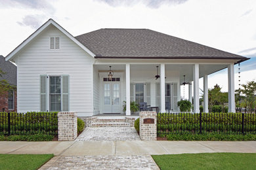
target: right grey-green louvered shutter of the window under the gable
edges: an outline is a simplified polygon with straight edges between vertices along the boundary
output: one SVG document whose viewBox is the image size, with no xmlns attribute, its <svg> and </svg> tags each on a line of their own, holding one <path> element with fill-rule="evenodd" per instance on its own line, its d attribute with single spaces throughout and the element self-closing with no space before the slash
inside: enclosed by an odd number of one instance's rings
<svg viewBox="0 0 256 170">
<path fill-rule="evenodd" d="M 68 75 L 62 76 L 62 110 L 69 111 L 69 84 L 70 77 Z"/>
</svg>

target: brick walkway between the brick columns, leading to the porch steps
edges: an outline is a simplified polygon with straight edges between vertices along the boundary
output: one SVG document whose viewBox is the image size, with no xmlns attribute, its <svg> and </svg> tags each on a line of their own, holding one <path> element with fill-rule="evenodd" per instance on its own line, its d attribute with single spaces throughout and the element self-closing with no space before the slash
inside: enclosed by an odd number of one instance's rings
<svg viewBox="0 0 256 170">
<path fill-rule="evenodd" d="M 86 127 L 75 141 L 140 141 L 134 127 Z"/>
</svg>

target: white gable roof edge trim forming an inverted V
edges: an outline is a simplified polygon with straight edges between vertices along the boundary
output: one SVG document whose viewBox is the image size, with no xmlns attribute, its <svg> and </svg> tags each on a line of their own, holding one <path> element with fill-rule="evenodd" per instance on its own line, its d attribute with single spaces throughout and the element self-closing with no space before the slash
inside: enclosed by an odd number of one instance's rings
<svg viewBox="0 0 256 170">
<path fill-rule="evenodd" d="M 59 29 L 62 33 L 64 33 L 67 37 L 69 37 L 72 41 L 74 41 L 78 46 L 83 48 L 83 50 L 85 50 L 88 54 L 95 57 L 95 54 L 93 54 L 93 52 L 91 52 L 87 47 L 85 47 L 83 44 L 81 44 L 81 42 L 77 41 L 77 39 L 75 39 L 75 37 L 73 35 L 71 35 L 68 31 L 66 31 L 66 29 L 64 29 L 62 26 L 60 26 L 53 19 L 50 18 L 47 22 L 45 22 L 45 24 L 41 25 L 41 27 L 39 27 L 34 33 L 32 33 L 32 35 L 30 35 L 30 37 L 28 37 L 19 46 L 17 46 L 14 50 L 12 50 L 12 52 L 6 56 L 5 60 L 8 61 L 17 52 L 20 52 L 20 50 L 22 50 L 22 48 L 24 48 L 24 46 L 26 46 L 30 41 L 32 41 L 32 39 L 34 39 L 37 35 L 39 35 L 39 33 L 41 33 L 41 31 L 43 31 L 45 28 L 47 28 L 50 24 L 53 24 L 57 29 Z"/>
</svg>

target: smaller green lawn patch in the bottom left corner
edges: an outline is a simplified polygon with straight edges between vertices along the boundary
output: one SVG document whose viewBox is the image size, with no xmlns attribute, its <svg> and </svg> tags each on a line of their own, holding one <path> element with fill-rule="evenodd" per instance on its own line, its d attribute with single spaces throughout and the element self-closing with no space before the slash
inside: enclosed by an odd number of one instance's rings
<svg viewBox="0 0 256 170">
<path fill-rule="evenodd" d="M 53 154 L 0 154 L 0 169 L 38 169 L 51 158 Z"/>
</svg>

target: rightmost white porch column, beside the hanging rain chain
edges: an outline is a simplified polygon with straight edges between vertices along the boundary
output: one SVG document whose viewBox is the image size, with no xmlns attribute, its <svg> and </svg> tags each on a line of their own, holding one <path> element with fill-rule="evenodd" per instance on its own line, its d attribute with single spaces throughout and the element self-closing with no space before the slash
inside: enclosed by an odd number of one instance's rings
<svg viewBox="0 0 256 170">
<path fill-rule="evenodd" d="M 236 112 L 234 97 L 234 63 L 228 65 L 228 112 Z"/>
</svg>

